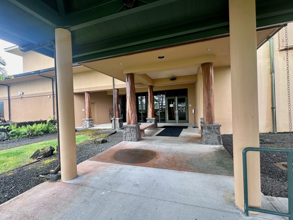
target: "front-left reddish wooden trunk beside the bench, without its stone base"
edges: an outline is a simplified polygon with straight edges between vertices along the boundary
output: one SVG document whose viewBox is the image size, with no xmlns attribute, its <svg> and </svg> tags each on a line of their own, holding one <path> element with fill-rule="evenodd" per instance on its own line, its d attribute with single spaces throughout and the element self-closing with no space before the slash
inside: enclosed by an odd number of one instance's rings
<svg viewBox="0 0 293 220">
<path fill-rule="evenodd" d="M 134 74 L 126 74 L 126 123 L 137 124 Z"/>
</svg>

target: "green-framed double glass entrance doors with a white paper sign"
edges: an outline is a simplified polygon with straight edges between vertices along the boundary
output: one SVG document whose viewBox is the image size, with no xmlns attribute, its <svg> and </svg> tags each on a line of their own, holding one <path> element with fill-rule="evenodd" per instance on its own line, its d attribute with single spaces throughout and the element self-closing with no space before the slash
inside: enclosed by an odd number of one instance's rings
<svg viewBox="0 0 293 220">
<path fill-rule="evenodd" d="M 188 103 L 186 96 L 167 97 L 166 106 L 168 123 L 188 122 Z"/>
</svg>

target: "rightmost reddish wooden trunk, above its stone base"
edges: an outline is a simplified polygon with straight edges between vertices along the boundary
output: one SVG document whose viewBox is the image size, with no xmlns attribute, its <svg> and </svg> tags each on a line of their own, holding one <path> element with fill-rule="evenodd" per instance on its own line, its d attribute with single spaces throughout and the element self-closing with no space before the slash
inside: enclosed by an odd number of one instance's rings
<svg viewBox="0 0 293 220">
<path fill-rule="evenodd" d="M 214 124 L 214 71 L 212 63 L 203 63 L 204 124 Z"/>
</svg>

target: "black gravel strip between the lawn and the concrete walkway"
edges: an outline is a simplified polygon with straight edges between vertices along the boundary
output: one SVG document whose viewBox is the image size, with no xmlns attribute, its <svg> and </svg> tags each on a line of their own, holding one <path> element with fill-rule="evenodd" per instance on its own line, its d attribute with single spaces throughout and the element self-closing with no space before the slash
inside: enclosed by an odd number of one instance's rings
<svg viewBox="0 0 293 220">
<path fill-rule="evenodd" d="M 95 133 L 111 133 L 115 130 L 103 130 Z M 107 150 L 108 148 L 120 143 L 123 140 L 123 130 L 117 130 L 117 133 L 105 138 L 106 143 L 94 144 L 93 141 L 87 141 L 76 147 L 77 164 Z M 39 175 L 47 175 L 58 165 L 58 159 L 43 163 L 45 160 L 58 158 L 57 154 L 42 159 L 36 163 L 17 168 L 11 172 L 0 174 L 0 204 L 18 196 L 19 194 L 39 185 L 45 179 Z"/>
</svg>

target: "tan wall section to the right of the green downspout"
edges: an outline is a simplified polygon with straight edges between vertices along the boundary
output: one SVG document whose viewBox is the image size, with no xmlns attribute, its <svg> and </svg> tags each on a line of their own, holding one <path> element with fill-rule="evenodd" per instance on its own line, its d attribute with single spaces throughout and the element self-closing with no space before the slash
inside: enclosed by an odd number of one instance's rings
<svg viewBox="0 0 293 220">
<path fill-rule="evenodd" d="M 293 28 L 288 26 L 289 28 Z M 290 36 L 289 36 L 290 37 Z M 291 35 L 291 38 L 293 35 Z M 282 39 L 281 39 L 282 40 Z M 292 86 L 292 69 L 293 69 L 293 50 L 289 52 L 289 68 L 291 75 L 291 94 L 293 94 Z M 274 57 L 275 57 L 275 87 L 276 87 L 276 116 L 277 116 L 277 132 L 289 131 L 288 123 L 288 99 L 287 99 L 287 73 L 286 73 L 286 52 L 279 51 L 278 35 L 274 36 Z M 291 103 L 293 97 L 291 95 Z"/>
</svg>

